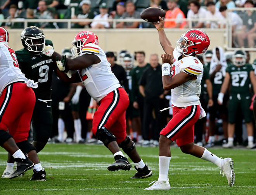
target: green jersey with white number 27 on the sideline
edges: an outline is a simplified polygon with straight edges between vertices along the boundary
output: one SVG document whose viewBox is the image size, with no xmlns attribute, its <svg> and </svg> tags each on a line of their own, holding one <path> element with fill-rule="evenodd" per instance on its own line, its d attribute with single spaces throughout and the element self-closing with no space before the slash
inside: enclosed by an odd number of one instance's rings
<svg viewBox="0 0 256 195">
<path fill-rule="evenodd" d="M 246 64 L 240 67 L 230 65 L 226 72 L 230 74 L 231 94 L 249 94 L 250 72 L 254 71 L 251 64 Z"/>
</svg>

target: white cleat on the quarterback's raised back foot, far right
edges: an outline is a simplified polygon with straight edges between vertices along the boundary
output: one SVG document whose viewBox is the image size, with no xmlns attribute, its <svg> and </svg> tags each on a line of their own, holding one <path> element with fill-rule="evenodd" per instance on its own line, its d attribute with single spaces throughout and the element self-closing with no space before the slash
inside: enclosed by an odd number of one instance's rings
<svg viewBox="0 0 256 195">
<path fill-rule="evenodd" d="M 220 174 L 227 177 L 228 185 L 233 186 L 235 183 L 235 173 L 234 173 L 234 161 L 231 158 L 223 159 L 223 166 L 221 167 Z"/>
</svg>

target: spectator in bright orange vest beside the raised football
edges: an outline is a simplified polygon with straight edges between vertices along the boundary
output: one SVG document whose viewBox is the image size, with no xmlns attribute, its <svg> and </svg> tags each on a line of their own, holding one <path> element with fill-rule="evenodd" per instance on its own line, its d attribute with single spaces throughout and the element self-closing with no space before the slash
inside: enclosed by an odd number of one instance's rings
<svg viewBox="0 0 256 195">
<path fill-rule="evenodd" d="M 166 28 L 183 28 L 186 25 L 186 22 L 183 21 L 185 19 L 185 15 L 177 7 L 176 0 L 168 0 L 167 2 L 168 11 L 165 14 L 166 19 L 175 19 L 173 21 L 165 21 L 164 27 Z"/>
</svg>

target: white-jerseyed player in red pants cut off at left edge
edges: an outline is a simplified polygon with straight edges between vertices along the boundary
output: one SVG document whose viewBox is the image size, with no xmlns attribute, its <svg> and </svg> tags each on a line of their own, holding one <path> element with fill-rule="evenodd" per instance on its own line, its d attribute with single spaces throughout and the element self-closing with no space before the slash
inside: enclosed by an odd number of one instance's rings
<svg viewBox="0 0 256 195">
<path fill-rule="evenodd" d="M 34 174 L 30 180 L 38 180 L 37 173 L 44 170 L 35 147 L 27 140 L 35 106 L 35 93 L 29 87 L 37 87 L 37 84 L 22 74 L 15 52 L 8 44 L 9 33 L 0 27 L 0 145 L 17 162 L 15 171 L 7 162 L 7 167 L 12 168 L 12 171 L 5 170 L 2 178 L 17 177 L 31 169 L 35 163 Z M 7 129 L 10 134 L 7 133 Z M 41 179 L 45 180 L 45 177 Z"/>
</svg>

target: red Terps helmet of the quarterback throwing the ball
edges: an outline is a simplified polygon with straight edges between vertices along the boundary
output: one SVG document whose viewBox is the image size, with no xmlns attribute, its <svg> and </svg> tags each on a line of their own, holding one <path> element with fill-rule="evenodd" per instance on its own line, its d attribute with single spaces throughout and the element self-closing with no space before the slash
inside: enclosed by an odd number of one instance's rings
<svg viewBox="0 0 256 195">
<path fill-rule="evenodd" d="M 191 29 L 180 36 L 176 42 L 176 51 L 185 56 L 204 53 L 208 49 L 210 39 L 208 35 L 199 29 Z"/>
</svg>

